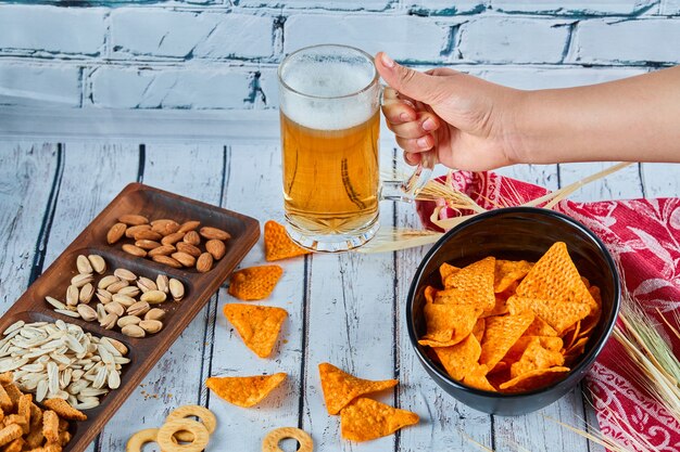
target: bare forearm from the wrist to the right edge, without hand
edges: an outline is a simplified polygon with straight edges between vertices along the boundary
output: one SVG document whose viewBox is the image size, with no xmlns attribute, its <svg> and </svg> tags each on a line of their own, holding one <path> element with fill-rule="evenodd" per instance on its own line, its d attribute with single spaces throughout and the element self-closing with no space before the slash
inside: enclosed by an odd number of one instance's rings
<svg viewBox="0 0 680 452">
<path fill-rule="evenodd" d="M 680 162 L 680 66 L 579 88 L 528 91 L 516 113 L 526 163 Z"/>
</svg>

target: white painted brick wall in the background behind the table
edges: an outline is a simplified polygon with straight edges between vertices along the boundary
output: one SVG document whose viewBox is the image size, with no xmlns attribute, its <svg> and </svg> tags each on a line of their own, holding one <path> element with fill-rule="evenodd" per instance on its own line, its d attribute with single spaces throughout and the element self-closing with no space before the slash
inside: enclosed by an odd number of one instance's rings
<svg viewBox="0 0 680 452">
<path fill-rule="evenodd" d="M 278 63 L 320 42 L 522 89 L 680 62 L 680 0 L 22 1 L 0 0 L 1 105 L 276 108 Z"/>
</svg>

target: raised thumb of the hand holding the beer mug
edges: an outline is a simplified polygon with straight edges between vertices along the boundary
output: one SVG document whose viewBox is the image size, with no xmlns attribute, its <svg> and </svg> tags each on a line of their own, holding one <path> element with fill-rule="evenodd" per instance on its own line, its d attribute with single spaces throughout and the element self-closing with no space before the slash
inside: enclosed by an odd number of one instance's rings
<svg viewBox="0 0 680 452">
<path fill-rule="evenodd" d="M 404 67 L 385 52 L 376 54 L 375 64 L 382 79 L 400 93 L 430 105 L 441 100 L 444 92 L 441 77 Z"/>
</svg>

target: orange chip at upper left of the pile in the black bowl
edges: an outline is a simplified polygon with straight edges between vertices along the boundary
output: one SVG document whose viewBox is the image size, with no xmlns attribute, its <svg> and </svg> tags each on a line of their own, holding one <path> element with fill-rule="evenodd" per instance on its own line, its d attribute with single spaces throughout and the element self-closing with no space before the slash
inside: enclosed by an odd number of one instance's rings
<svg viewBox="0 0 680 452">
<path fill-rule="evenodd" d="M 455 302 L 457 298 L 469 302 L 471 298 L 482 309 L 492 309 L 495 306 L 495 297 L 493 295 L 493 272 L 495 258 L 488 257 L 461 270 L 453 272 L 444 279 L 444 289 L 446 300 L 441 302 Z M 440 294 L 442 294 L 440 293 Z M 440 295 L 438 294 L 438 295 Z"/>
</svg>

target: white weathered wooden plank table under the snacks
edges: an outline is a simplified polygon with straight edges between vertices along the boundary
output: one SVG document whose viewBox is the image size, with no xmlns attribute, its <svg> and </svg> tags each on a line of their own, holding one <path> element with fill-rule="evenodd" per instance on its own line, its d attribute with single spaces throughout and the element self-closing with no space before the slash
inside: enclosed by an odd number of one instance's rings
<svg viewBox="0 0 680 452">
<path fill-rule="evenodd" d="M 133 181 L 237 210 L 261 222 L 282 219 L 276 141 L 0 141 L 0 310 L 7 310 Z M 392 142 L 386 141 L 382 151 L 388 164 L 394 155 L 401 156 L 391 148 Z M 556 189 L 607 165 L 520 166 L 502 172 Z M 587 186 L 572 198 L 675 196 L 680 192 L 678 180 L 678 165 L 638 165 Z M 410 205 L 383 203 L 381 208 L 385 225 L 418 225 Z M 580 389 L 538 413 L 498 417 L 457 403 L 428 378 L 404 323 L 408 285 L 426 251 L 314 255 L 284 261 L 284 277 L 262 302 L 289 312 L 277 351 L 267 360 L 248 350 L 227 325 L 222 307 L 234 298 L 221 288 L 90 450 L 122 451 L 131 432 L 159 426 L 172 409 L 185 403 L 205 404 L 216 413 L 219 425 L 209 451 L 260 451 L 263 436 L 280 426 L 310 431 L 315 450 L 323 452 L 479 450 L 469 439 L 499 451 L 602 450 L 546 418 L 581 428 L 584 418 L 594 422 Z M 262 262 L 260 243 L 242 266 Z M 398 378 L 401 384 L 395 390 L 380 399 L 415 411 L 420 424 L 366 443 L 341 440 L 339 417 L 329 416 L 323 404 L 317 372 L 323 361 L 365 378 Z M 229 405 L 203 386 L 210 375 L 274 372 L 287 372 L 286 384 L 254 409 Z M 294 450 L 291 444 L 286 448 Z"/>
</svg>

